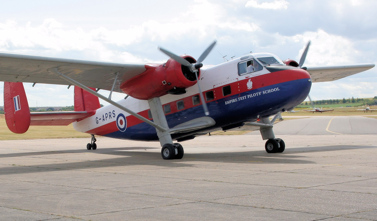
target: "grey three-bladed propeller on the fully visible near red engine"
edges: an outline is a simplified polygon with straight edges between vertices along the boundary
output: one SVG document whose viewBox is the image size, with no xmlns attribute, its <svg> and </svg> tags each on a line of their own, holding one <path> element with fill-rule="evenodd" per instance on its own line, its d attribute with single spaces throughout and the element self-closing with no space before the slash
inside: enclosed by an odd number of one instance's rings
<svg viewBox="0 0 377 221">
<path fill-rule="evenodd" d="M 198 60 L 196 60 L 196 63 L 190 63 L 186 59 L 179 57 L 178 55 L 171 53 L 170 51 L 167 51 L 166 49 L 163 49 L 161 47 L 158 48 L 160 51 L 162 51 L 163 53 L 165 53 L 167 56 L 171 57 L 172 59 L 176 60 L 181 65 L 189 67 L 190 71 L 195 73 L 196 82 L 198 82 L 200 100 L 202 101 L 204 114 L 206 116 L 208 116 L 210 114 L 210 112 L 208 111 L 208 107 L 207 107 L 207 104 L 205 103 L 203 92 L 202 92 L 202 89 L 200 87 L 200 83 L 199 83 L 199 79 L 198 79 L 198 70 L 199 70 L 199 68 L 201 68 L 203 66 L 203 64 L 202 64 L 203 60 L 205 59 L 205 57 L 207 57 L 207 55 L 210 53 L 210 51 L 212 50 L 212 48 L 215 45 L 216 45 L 216 41 L 213 41 L 213 43 L 210 46 L 208 46 L 208 48 L 202 53 L 202 55 L 198 58 Z"/>
</svg>

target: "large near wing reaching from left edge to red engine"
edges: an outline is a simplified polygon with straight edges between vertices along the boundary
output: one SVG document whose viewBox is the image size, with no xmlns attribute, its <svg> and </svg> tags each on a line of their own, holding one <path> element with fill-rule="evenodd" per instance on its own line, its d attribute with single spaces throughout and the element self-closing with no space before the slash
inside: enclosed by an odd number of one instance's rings
<svg viewBox="0 0 377 221">
<path fill-rule="evenodd" d="M 56 74 L 58 71 L 87 87 L 123 93 L 120 84 L 146 71 L 142 63 L 117 63 L 93 60 L 65 59 L 48 56 L 0 52 L 0 80 L 7 82 L 29 82 L 69 85 L 70 83 Z"/>
</svg>

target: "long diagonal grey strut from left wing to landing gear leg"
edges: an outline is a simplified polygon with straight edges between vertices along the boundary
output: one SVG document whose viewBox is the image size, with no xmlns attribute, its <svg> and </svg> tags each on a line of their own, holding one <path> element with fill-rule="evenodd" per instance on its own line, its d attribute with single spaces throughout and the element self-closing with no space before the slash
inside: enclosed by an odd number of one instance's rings
<svg viewBox="0 0 377 221">
<path fill-rule="evenodd" d="M 133 112 L 132 110 L 130 110 L 130 109 L 126 108 L 126 107 L 123 107 L 122 105 L 116 103 L 115 101 L 113 101 L 113 100 L 111 100 L 111 99 L 103 96 L 100 93 L 97 93 L 97 92 L 91 90 L 90 88 L 88 88 L 85 85 L 83 85 L 83 84 L 81 84 L 81 83 L 79 83 L 79 82 L 71 79 L 70 77 L 65 76 L 64 74 L 62 74 L 62 73 L 60 73 L 58 71 L 58 68 L 50 68 L 48 71 L 51 72 L 51 73 L 57 74 L 59 77 L 63 78 L 64 80 L 67 80 L 68 82 L 72 83 L 73 85 L 76 85 L 77 87 L 83 88 L 83 90 L 86 90 L 87 92 L 89 92 L 89 93 L 91 93 L 91 94 L 93 94 L 93 95 L 101 98 L 102 100 L 104 100 L 106 102 L 109 102 L 110 104 L 114 105 L 115 107 L 120 108 L 121 110 L 126 111 L 127 113 L 129 113 L 129 114 L 137 117 L 138 119 L 146 122 L 147 124 L 151 125 L 152 127 L 155 127 L 159 131 L 165 132 L 165 131 L 169 130 L 169 128 L 161 127 L 160 125 L 156 124 L 155 122 L 150 121 L 149 119 L 147 119 L 147 118 L 145 118 L 145 117 L 143 117 L 143 116 L 141 116 L 141 115 Z"/>
</svg>

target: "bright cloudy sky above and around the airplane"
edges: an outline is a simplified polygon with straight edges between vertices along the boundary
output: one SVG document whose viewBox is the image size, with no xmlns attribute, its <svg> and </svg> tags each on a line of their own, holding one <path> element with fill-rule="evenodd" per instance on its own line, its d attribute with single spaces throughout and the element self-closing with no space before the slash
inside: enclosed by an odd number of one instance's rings
<svg viewBox="0 0 377 221">
<path fill-rule="evenodd" d="M 0 51 L 131 63 L 164 63 L 162 46 L 204 64 L 253 51 L 304 66 L 377 63 L 375 0 L 3 1 Z M 1 65 L 1 64 L 0 64 Z M 377 96 L 377 67 L 313 83 L 313 100 Z M 73 105 L 73 87 L 24 83 L 30 107 Z M 108 96 L 108 91 L 100 92 Z M 0 105 L 3 105 L 0 82 Z M 113 94 L 113 100 L 124 94 Z M 106 102 L 101 101 L 101 104 Z"/>
</svg>

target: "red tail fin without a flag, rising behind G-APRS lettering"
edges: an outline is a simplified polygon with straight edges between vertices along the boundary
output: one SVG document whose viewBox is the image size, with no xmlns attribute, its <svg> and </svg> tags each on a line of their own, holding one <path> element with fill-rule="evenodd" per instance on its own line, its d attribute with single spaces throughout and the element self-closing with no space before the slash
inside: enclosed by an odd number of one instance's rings
<svg viewBox="0 0 377 221">
<path fill-rule="evenodd" d="M 90 88 L 93 91 L 95 88 Z M 101 107 L 98 97 L 90 94 L 89 92 L 75 86 L 75 111 L 91 111 L 97 110 Z"/>
</svg>

